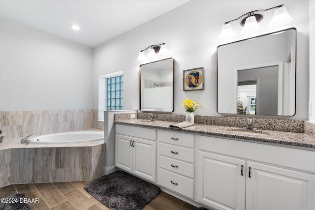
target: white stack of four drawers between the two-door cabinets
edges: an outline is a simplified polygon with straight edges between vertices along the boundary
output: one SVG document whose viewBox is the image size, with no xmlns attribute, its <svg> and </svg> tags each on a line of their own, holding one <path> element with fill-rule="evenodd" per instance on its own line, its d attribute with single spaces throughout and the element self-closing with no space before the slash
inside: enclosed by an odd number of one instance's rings
<svg viewBox="0 0 315 210">
<path fill-rule="evenodd" d="M 194 198 L 194 135 L 157 131 L 157 182 L 177 193 Z"/>
</svg>

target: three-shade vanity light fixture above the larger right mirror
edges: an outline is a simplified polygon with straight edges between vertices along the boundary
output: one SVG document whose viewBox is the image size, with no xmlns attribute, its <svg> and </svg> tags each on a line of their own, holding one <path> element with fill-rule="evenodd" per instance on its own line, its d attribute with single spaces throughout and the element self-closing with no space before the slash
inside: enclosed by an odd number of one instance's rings
<svg viewBox="0 0 315 210">
<path fill-rule="evenodd" d="M 248 13 L 245 13 L 244 15 L 241 15 L 240 17 L 227 21 L 223 24 L 221 34 L 219 36 L 220 39 L 224 38 L 230 38 L 234 36 L 234 31 L 232 30 L 230 22 L 239 20 L 240 18 L 247 16 L 242 19 L 241 21 L 241 26 L 244 28 L 242 29 L 242 33 L 250 33 L 259 30 L 259 25 L 258 23 L 263 19 L 263 15 L 258 14 L 256 12 L 264 12 L 270 9 L 276 9 L 274 12 L 274 15 L 272 17 L 272 20 L 269 24 L 270 27 L 278 26 L 281 24 L 286 24 L 292 20 L 291 16 L 288 14 L 284 4 L 271 7 L 269 9 L 258 9 L 254 10 Z"/>
</svg>

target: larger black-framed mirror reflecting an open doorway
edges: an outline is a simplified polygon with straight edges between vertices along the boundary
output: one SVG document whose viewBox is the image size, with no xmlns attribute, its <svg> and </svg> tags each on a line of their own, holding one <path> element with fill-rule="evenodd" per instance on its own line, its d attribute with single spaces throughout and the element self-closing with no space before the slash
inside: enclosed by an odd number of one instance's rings
<svg viewBox="0 0 315 210">
<path fill-rule="evenodd" d="M 220 45 L 219 114 L 295 114 L 296 29 Z"/>
</svg>

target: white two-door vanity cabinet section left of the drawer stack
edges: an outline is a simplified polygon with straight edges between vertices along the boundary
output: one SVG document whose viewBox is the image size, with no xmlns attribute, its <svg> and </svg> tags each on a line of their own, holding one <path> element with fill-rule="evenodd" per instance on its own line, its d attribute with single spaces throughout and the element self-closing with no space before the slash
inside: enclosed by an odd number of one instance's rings
<svg viewBox="0 0 315 210">
<path fill-rule="evenodd" d="M 117 124 L 115 166 L 156 182 L 156 130 Z"/>
</svg>

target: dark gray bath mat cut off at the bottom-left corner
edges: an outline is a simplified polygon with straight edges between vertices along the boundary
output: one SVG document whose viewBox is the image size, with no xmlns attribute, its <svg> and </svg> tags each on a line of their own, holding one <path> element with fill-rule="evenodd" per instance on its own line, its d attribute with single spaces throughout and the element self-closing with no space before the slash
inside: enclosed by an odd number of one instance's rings
<svg viewBox="0 0 315 210">
<path fill-rule="evenodd" d="M 24 193 L 1 198 L 0 210 L 32 210 L 30 204 L 23 202 L 24 198 L 26 198 Z"/>
</svg>

